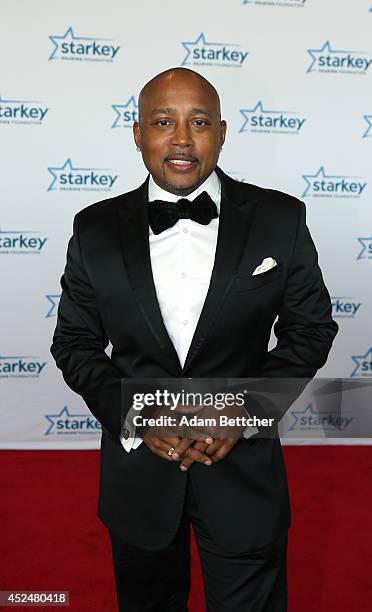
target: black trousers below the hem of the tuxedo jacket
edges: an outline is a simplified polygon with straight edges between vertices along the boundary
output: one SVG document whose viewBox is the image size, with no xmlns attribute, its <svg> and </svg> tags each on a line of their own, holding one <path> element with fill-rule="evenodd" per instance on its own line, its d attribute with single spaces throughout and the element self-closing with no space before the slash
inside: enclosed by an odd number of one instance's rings
<svg viewBox="0 0 372 612">
<path fill-rule="evenodd" d="M 203 571 L 207 612 L 286 612 L 287 534 L 247 554 L 223 550 L 208 533 L 189 474 L 187 478 L 180 527 L 166 549 L 135 549 L 109 532 L 119 611 L 187 612 L 191 523 Z"/>
</svg>

